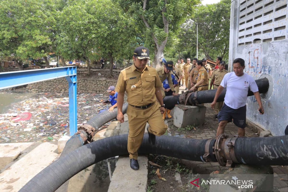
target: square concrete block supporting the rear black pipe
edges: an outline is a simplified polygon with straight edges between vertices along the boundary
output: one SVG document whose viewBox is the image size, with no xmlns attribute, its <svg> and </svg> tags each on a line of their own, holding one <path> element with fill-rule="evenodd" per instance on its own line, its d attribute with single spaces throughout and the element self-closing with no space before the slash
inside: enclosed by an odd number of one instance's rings
<svg viewBox="0 0 288 192">
<path fill-rule="evenodd" d="M 184 128 L 189 125 L 198 126 L 204 124 L 206 107 L 176 105 L 174 108 L 174 125 Z"/>
</svg>

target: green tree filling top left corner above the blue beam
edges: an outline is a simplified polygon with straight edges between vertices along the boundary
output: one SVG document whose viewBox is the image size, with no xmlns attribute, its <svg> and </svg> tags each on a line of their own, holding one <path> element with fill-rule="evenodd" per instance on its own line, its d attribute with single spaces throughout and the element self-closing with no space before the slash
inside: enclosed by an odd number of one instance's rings
<svg viewBox="0 0 288 192">
<path fill-rule="evenodd" d="M 47 55 L 55 40 L 53 0 L 3 0 L 0 4 L 1 52 L 12 56 L 21 70 L 22 60 L 41 58 L 50 67 Z"/>
</svg>

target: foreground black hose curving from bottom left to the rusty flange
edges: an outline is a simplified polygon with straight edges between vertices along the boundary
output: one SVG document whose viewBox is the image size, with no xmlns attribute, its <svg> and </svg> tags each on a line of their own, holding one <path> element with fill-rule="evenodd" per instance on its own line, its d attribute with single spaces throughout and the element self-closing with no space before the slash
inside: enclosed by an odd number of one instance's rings
<svg viewBox="0 0 288 192">
<path fill-rule="evenodd" d="M 84 145 L 65 157 L 59 158 L 48 167 L 34 176 L 21 192 L 55 191 L 66 180 L 89 166 L 117 155 L 127 155 L 128 134 L 113 136 L 94 141 Z M 207 140 L 161 136 L 156 138 L 156 143 L 151 146 L 148 134 L 144 134 L 139 154 L 158 154 L 177 157 L 181 159 L 202 161 L 205 153 L 204 147 Z"/>
</svg>

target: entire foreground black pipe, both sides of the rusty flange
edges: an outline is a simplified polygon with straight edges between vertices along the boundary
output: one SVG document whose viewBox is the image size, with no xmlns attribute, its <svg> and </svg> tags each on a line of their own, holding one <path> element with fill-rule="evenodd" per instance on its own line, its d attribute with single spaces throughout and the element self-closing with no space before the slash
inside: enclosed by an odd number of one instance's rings
<svg viewBox="0 0 288 192">
<path fill-rule="evenodd" d="M 127 134 L 119 135 L 84 145 L 65 157 L 54 161 L 34 176 L 20 191 L 55 191 L 66 180 L 81 170 L 110 157 L 127 155 L 127 138 Z M 207 153 L 205 154 L 207 141 L 209 140 L 162 135 L 156 137 L 155 145 L 150 145 L 148 135 L 145 134 L 139 154 L 157 154 L 192 161 L 204 161 L 204 155 L 207 155 Z M 215 146 L 213 148 L 211 142 L 208 146 L 209 155 L 214 155 L 213 150 L 216 149 Z M 226 152 L 229 153 L 229 150 Z M 288 136 L 236 138 L 234 153 L 239 163 L 285 166 L 288 165 Z M 211 159 L 211 161 L 215 161 L 215 157 Z"/>
</svg>

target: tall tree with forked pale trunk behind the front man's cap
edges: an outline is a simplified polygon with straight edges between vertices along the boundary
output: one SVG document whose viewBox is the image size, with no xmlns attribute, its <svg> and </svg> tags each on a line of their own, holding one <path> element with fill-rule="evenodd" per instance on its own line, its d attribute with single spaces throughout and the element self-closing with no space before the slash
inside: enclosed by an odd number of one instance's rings
<svg viewBox="0 0 288 192">
<path fill-rule="evenodd" d="M 114 0 L 115 1 L 115 0 Z M 130 13 L 145 32 L 145 45 L 154 49 L 154 66 L 160 62 L 168 37 L 172 37 L 191 9 L 200 0 L 119 0 L 125 12 Z M 152 50 L 150 51 L 150 53 Z"/>
</svg>

